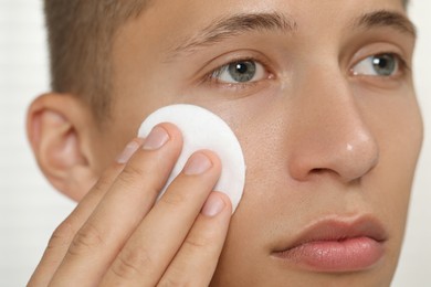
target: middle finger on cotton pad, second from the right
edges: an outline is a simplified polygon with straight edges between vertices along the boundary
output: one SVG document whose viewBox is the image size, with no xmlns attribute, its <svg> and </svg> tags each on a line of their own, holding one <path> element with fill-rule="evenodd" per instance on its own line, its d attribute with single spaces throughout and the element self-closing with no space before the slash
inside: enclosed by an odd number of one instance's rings
<svg viewBox="0 0 431 287">
<path fill-rule="evenodd" d="M 220 170 L 220 161 L 212 152 L 192 155 L 130 236 L 102 285 L 155 286 L 185 241 Z"/>
</svg>

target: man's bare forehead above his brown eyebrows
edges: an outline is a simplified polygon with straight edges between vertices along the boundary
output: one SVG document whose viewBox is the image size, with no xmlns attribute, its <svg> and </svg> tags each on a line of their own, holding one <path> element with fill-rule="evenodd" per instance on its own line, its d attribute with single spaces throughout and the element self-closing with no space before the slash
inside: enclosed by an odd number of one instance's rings
<svg viewBox="0 0 431 287">
<path fill-rule="evenodd" d="M 346 23 L 351 17 L 372 10 L 390 10 L 404 14 L 403 0 L 157 0 L 143 13 L 153 31 L 180 31 L 207 26 L 214 19 L 241 13 L 280 13 L 301 22 L 329 21 Z M 153 23 L 153 24 L 151 24 Z M 175 30 L 172 31 L 172 25 Z M 169 32 L 169 31 L 168 31 Z"/>
</svg>

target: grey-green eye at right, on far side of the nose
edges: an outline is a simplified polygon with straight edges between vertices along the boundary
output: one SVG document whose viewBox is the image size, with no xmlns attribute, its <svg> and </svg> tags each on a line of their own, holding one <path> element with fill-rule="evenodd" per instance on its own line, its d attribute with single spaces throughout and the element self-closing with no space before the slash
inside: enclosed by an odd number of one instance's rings
<svg viewBox="0 0 431 287">
<path fill-rule="evenodd" d="M 396 54 L 377 54 L 364 59 L 356 64 L 351 72 L 354 75 L 392 76 L 400 70 L 400 59 Z"/>
</svg>

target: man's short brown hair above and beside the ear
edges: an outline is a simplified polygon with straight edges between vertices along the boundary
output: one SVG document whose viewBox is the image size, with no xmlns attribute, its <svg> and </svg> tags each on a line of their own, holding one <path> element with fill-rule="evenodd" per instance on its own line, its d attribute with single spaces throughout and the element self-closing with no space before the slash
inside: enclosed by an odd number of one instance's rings
<svg viewBox="0 0 431 287">
<path fill-rule="evenodd" d="M 51 88 L 86 103 L 97 119 L 108 113 L 112 47 L 118 28 L 148 0 L 44 0 Z"/>
</svg>

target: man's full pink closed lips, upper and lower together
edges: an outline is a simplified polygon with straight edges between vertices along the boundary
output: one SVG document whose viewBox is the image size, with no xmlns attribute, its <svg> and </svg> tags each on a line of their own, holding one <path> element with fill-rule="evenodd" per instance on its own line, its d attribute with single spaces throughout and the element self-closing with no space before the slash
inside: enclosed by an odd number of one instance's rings
<svg viewBox="0 0 431 287">
<path fill-rule="evenodd" d="M 322 220 L 272 256 L 314 272 L 358 272 L 371 268 L 385 255 L 387 234 L 372 217 Z"/>
</svg>

